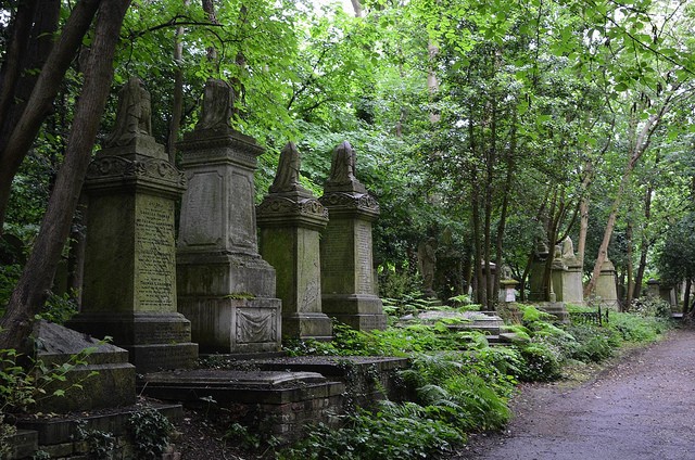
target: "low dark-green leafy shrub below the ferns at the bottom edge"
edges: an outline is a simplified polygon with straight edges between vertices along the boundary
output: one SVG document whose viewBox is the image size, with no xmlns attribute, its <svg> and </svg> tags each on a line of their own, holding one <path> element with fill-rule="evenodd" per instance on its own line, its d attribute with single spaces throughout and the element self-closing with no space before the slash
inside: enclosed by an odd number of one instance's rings
<svg viewBox="0 0 695 460">
<path fill-rule="evenodd" d="M 282 460 L 439 458 L 464 440 L 456 429 L 414 403 L 380 404 L 376 413 L 348 416 L 340 430 L 319 424 L 306 439 L 279 452 Z"/>
</svg>

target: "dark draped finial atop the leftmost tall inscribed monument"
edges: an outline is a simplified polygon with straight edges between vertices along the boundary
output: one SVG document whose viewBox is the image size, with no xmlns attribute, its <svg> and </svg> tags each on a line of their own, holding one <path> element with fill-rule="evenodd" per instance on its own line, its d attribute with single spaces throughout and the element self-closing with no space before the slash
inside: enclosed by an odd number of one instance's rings
<svg viewBox="0 0 695 460">
<path fill-rule="evenodd" d="M 128 145 L 138 136 L 152 137 L 152 107 L 142 80 L 131 77 L 118 91 L 116 125 L 106 146 Z"/>
</svg>

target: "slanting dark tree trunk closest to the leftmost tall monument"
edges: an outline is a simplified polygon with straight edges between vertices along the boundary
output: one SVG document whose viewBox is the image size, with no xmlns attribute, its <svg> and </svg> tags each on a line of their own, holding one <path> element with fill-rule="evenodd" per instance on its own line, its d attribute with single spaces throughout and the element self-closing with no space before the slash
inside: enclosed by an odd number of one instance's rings
<svg viewBox="0 0 695 460">
<path fill-rule="evenodd" d="M 113 78 L 113 56 L 130 0 L 104 1 L 85 69 L 85 84 L 75 108 L 65 161 L 59 171 L 41 229 L 0 321 L 0 348 L 22 348 L 34 315 L 46 302 L 61 251 L 70 233 L 91 151 Z"/>
</svg>

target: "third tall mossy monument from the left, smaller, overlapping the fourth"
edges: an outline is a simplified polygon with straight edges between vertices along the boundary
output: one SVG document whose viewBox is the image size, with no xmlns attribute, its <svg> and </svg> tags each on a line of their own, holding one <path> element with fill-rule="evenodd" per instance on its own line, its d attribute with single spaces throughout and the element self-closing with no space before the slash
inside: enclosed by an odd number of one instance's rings
<svg viewBox="0 0 695 460">
<path fill-rule="evenodd" d="M 299 182 L 300 153 L 288 143 L 268 195 L 256 208 L 261 255 L 276 270 L 285 338 L 330 340 L 330 318 L 321 311 L 319 232 L 328 212 Z"/>
</svg>

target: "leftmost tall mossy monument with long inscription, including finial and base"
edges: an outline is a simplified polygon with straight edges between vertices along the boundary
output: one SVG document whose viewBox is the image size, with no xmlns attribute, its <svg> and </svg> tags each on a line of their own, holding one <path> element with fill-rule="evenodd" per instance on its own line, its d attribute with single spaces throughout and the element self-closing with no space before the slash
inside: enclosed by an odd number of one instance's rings
<svg viewBox="0 0 695 460">
<path fill-rule="evenodd" d="M 185 189 L 152 137 L 150 95 L 131 78 L 119 92 L 114 132 L 87 173 L 83 307 L 68 327 L 112 336 L 138 372 L 198 359 L 176 305 L 174 207 Z"/>
</svg>

